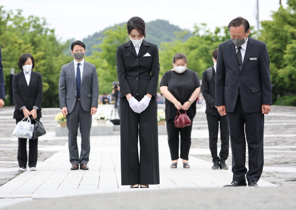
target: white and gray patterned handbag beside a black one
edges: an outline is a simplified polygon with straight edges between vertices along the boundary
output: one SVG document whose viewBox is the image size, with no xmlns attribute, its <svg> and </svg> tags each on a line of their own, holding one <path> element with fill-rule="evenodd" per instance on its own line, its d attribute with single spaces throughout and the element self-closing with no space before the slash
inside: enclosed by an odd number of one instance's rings
<svg viewBox="0 0 296 210">
<path fill-rule="evenodd" d="M 30 117 L 28 117 L 27 121 L 25 121 L 25 118 L 23 118 L 15 126 L 15 129 L 13 130 L 12 135 L 22 139 L 32 139 L 33 130 L 34 130 L 34 125 L 31 124 Z"/>
</svg>

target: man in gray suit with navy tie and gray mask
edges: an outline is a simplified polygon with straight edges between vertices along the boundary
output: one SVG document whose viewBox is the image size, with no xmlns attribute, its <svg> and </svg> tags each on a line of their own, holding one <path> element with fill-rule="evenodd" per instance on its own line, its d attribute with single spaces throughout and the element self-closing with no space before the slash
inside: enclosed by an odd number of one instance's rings
<svg viewBox="0 0 296 210">
<path fill-rule="evenodd" d="M 84 61 L 85 45 L 81 41 L 71 44 L 74 61 L 63 65 L 59 76 L 59 104 L 66 116 L 69 129 L 68 142 L 71 170 L 88 170 L 91 115 L 98 107 L 99 82 L 95 65 Z M 81 153 L 77 146 L 78 124 L 81 133 Z"/>
</svg>

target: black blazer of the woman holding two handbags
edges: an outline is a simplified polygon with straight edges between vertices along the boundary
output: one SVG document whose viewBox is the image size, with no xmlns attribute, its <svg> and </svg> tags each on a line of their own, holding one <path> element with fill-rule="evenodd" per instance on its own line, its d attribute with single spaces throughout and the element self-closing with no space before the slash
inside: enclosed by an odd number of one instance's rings
<svg viewBox="0 0 296 210">
<path fill-rule="evenodd" d="M 24 71 L 16 73 L 12 78 L 12 89 L 13 98 L 15 99 L 13 118 L 24 118 L 24 113 L 20 110 L 23 106 L 26 106 L 29 111 L 33 109 L 33 106 L 38 107 L 37 118 L 41 118 L 41 102 L 43 96 L 41 74 L 32 70 L 28 86 Z"/>
</svg>

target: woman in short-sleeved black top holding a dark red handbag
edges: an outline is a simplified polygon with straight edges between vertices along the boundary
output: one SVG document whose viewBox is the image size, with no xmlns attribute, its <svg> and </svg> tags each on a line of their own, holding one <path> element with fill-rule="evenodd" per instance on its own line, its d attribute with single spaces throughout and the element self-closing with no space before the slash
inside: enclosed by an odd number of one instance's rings
<svg viewBox="0 0 296 210">
<path fill-rule="evenodd" d="M 179 132 L 181 135 L 181 153 L 183 167 L 189 168 L 188 154 L 191 145 L 192 124 L 176 128 L 174 119 L 177 110 L 186 110 L 190 120 L 196 113 L 196 100 L 200 93 L 200 80 L 197 74 L 186 68 L 187 58 L 183 53 L 173 57 L 173 69 L 167 71 L 160 81 L 160 91 L 165 96 L 165 120 L 168 132 L 168 145 L 172 159 L 171 168 L 177 168 L 179 151 Z M 183 111 L 185 112 L 185 111 Z"/>
</svg>

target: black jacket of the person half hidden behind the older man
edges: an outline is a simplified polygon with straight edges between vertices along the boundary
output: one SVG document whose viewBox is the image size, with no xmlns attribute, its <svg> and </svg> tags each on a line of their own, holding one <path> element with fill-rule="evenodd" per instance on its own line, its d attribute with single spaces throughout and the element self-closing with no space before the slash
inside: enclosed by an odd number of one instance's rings
<svg viewBox="0 0 296 210">
<path fill-rule="evenodd" d="M 212 66 L 213 76 L 210 84 L 207 84 L 207 70 L 202 73 L 202 96 L 207 103 L 205 113 L 214 116 L 220 116 L 218 110 L 215 108 L 216 105 L 216 95 L 215 95 L 215 78 L 216 73 L 214 66 Z"/>
</svg>

